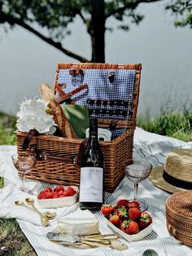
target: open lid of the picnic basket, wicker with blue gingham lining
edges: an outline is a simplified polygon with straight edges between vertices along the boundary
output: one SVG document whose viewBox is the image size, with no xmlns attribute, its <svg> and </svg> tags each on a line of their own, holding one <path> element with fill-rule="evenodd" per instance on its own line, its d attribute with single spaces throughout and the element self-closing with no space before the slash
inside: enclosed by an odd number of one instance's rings
<svg viewBox="0 0 192 256">
<path fill-rule="evenodd" d="M 72 95 L 76 104 L 86 104 L 89 116 L 99 125 L 127 128 L 136 125 L 142 64 L 59 63 L 55 94 Z M 77 90 L 87 84 L 88 89 Z"/>
</svg>

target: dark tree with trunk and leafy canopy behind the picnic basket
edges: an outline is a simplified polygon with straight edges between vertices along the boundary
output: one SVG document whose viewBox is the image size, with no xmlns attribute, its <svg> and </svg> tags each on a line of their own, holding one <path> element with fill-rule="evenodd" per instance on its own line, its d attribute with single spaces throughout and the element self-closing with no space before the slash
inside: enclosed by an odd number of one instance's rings
<svg viewBox="0 0 192 256">
<path fill-rule="evenodd" d="M 106 20 L 111 16 L 120 21 L 119 29 L 128 30 L 130 24 L 139 24 L 143 15 L 137 12 L 141 3 L 162 0 L 0 0 L 0 24 L 15 24 L 27 29 L 59 51 L 81 62 L 84 56 L 66 49 L 62 40 L 71 31 L 68 25 L 78 16 L 91 38 L 92 62 L 105 62 Z M 129 24 L 124 24 L 129 17 Z"/>
</svg>

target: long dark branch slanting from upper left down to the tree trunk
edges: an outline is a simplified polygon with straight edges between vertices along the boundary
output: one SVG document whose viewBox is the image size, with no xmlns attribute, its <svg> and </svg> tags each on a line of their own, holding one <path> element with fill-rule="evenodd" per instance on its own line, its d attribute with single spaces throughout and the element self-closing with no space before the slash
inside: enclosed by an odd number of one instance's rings
<svg viewBox="0 0 192 256">
<path fill-rule="evenodd" d="M 58 49 L 59 51 L 62 51 L 64 54 L 68 55 L 69 57 L 72 57 L 73 59 L 79 60 L 80 62 L 89 62 L 89 60 L 87 60 L 83 56 L 77 55 L 76 53 L 69 51 L 66 48 L 63 48 L 63 46 L 60 42 L 55 42 L 51 38 L 46 38 L 44 35 L 42 35 L 37 30 L 33 29 L 31 26 L 24 23 L 22 20 L 20 20 L 18 18 L 6 15 L 5 21 L 7 21 L 9 24 L 20 25 L 20 27 L 27 29 L 29 32 L 35 34 L 38 38 L 41 38 L 44 42 L 47 42 L 51 46 L 54 46 L 56 49 Z"/>
</svg>

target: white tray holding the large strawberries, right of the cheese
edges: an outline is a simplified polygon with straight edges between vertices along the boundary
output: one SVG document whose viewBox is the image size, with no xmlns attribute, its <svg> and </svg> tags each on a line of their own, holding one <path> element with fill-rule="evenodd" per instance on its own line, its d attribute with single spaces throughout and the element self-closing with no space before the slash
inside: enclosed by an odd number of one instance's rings
<svg viewBox="0 0 192 256">
<path fill-rule="evenodd" d="M 126 241 L 129 241 L 129 242 L 140 241 L 140 240 L 142 240 L 142 238 L 149 235 L 152 231 L 152 223 L 151 223 L 148 227 L 146 227 L 142 231 L 138 232 L 137 234 L 129 235 L 129 234 L 122 232 L 122 230 L 120 230 L 119 227 L 116 227 L 115 225 L 113 225 L 107 218 L 106 218 L 106 221 L 107 221 L 107 225 L 109 227 L 111 227 L 113 229 L 113 231 L 115 231 L 117 234 L 119 234 Z"/>
</svg>

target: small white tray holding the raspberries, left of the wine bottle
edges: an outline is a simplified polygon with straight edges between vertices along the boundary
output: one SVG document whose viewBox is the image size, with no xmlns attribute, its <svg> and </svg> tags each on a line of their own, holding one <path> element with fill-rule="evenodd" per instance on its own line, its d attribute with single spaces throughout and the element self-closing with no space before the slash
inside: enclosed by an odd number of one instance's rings
<svg viewBox="0 0 192 256">
<path fill-rule="evenodd" d="M 63 206 L 71 206 L 76 203 L 78 196 L 78 187 L 70 186 L 75 189 L 76 194 L 74 196 L 65 196 L 59 198 L 50 198 L 50 199 L 37 199 L 37 202 L 41 208 L 59 208 Z M 68 187 L 63 186 L 66 190 Z"/>
</svg>

